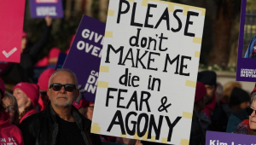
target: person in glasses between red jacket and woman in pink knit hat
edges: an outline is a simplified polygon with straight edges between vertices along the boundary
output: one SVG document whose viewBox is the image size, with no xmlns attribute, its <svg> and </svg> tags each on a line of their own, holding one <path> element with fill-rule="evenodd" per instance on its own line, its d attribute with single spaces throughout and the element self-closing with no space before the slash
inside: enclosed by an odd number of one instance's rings
<svg viewBox="0 0 256 145">
<path fill-rule="evenodd" d="M 9 113 L 9 123 L 13 125 L 19 125 L 19 110 L 15 96 L 5 91 L 2 102 L 3 107 L 5 108 L 5 112 Z"/>
</svg>

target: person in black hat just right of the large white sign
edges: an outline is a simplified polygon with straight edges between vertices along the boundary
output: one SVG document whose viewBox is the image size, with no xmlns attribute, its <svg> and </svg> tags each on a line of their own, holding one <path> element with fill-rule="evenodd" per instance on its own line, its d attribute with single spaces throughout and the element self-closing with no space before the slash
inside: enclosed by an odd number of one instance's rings
<svg viewBox="0 0 256 145">
<path fill-rule="evenodd" d="M 197 81 L 205 84 L 207 88 L 206 107 L 202 112 L 206 113 L 208 118 L 211 119 L 212 113 L 216 106 L 215 92 L 217 89 L 217 75 L 213 71 L 203 71 L 198 73 Z"/>
</svg>

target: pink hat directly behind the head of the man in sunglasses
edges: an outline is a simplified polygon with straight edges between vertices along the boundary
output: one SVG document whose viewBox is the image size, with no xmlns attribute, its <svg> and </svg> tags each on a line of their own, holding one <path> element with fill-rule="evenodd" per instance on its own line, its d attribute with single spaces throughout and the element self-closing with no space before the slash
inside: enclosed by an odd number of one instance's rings
<svg viewBox="0 0 256 145">
<path fill-rule="evenodd" d="M 43 73 L 41 73 L 40 77 L 38 78 L 38 85 L 40 90 L 48 89 L 49 77 L 52 75 L 52 73 L 55 73 L 55 69 L 53 68 L 48 68 Z"/>
</svg>

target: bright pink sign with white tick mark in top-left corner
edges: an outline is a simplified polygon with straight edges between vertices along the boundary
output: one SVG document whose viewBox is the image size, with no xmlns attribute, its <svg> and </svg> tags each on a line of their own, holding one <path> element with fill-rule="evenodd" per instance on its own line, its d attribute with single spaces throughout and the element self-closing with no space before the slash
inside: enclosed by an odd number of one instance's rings
<svg viewBox="0 0 256 145">
<path fill-rule="evenodd" d="M 25 0 L 0 2 L 0 61 L 20 62 Z"/>
</svg>

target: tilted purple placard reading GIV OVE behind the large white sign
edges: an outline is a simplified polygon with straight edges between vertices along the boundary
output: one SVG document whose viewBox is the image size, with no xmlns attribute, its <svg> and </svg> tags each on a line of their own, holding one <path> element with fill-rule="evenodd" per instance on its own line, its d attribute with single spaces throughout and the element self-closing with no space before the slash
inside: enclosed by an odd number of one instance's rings
<svg viewBox="0 0 256 145">
<path fill-rule="evenodd" d="M 106 24 L 84 15 L 63 68 L 72 70 L 82 85 L 83 98 L 95 102 Z"/>
</svg>

